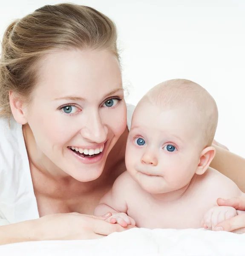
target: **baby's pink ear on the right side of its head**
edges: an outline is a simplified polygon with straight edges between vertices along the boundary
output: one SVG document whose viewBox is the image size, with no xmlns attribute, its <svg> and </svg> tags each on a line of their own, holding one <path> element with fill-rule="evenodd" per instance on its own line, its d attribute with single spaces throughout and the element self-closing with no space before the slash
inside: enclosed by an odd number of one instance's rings
<svg viewBox="0 0 245 256">
<path fill-rule="evenodd" d="M 215 148 L 214 147 L 207 147 L 204 148 L 200 154 L 199 164 L 196 168 L 196 174 L 202 175 L 206 172 L 208 169 L 208 166 L 213 160 L 213 157 L 215 156 Z"/>
</svg>

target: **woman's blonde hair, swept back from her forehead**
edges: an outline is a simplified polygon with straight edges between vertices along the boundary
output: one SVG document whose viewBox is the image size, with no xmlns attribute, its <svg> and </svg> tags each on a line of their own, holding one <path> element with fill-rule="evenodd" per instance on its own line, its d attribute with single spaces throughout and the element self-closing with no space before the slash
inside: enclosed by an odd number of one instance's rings
<svg viewBox="0 0 245 256">
<path fill-rule="evenodd" d="M 10 116 L 9 91 L 29 102 L 36 64 L 53 50 L 107 49 L 118 58 L 115 24 L 88 6 L 46 5 L 12 22 L 3 35 L 0 58 L 0 115 Z"/>
</svg>

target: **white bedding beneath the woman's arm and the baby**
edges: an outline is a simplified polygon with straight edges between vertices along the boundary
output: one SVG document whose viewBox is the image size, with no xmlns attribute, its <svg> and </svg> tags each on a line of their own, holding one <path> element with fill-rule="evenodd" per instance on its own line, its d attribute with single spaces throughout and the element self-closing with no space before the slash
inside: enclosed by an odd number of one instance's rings
<svg viewBox="0 0 245 256">
<path fill-rule="evenodd" d="M 0 256 L 245 256 L 245 234 L 209 230 L 138 229 L 113 233 L 103 239 L 39 241 L 0 246 Z"/>
</svg>

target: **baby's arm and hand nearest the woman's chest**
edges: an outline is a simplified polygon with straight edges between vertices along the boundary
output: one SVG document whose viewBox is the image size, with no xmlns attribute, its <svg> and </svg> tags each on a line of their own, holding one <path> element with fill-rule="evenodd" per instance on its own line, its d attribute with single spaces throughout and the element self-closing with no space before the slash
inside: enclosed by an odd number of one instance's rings
<svg viewBox="0 0 245 256">
<path fill-rule="evenodd" d="M 107 221 L 118 223 L 123 227 L 135 225 L 135 221 L 127 215 L 127 198 L 130 194 L 130 181 L 132 179 L 127 172 L 121 174 L 114 182 L 112 189 L 101 198 L 99 205 L 95 208 L 95 215 L 104 215 L 111 212 Z"/>
</svg>

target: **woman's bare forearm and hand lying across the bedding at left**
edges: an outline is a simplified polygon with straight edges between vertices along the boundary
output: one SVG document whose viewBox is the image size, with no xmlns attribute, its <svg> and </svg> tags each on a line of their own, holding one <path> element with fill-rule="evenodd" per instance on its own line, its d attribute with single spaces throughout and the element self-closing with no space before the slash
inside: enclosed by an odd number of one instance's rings
<svg viewBox="0 0 245 256">
<path fill-rule="evenodd" d="M 119 224 L 105 221 L 112 214 L 104 216 L 64 213 L 46 215 L 39 219 L 23 221 L 0 227 L 0 244 L 23 241 L 98 239 L 113 232 L 128 230 Z"/>
</svg>

